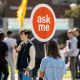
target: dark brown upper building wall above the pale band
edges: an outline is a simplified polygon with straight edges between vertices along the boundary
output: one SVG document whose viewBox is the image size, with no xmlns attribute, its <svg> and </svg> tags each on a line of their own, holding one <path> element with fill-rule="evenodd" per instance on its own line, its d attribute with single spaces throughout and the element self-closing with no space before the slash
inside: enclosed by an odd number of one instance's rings
<svg viewBox="0 0 80 80">
<path fill-rule="evenodd" d="M 7 17 L 16 17 L 16 10 L 20 5 L 21 0 L 7 0 L 7 9 L 6 9 L 6 16 Z M 65 10 L 70 9 L 70 4 L 77 3 L 78 0 L 28 0 L 28 8 L 27 8 L 27 15 L 26 17 L 30 17 L 33 8 L 41 3 L 45 3 L 50 5 L 56 17 L 60 18 L 64 14 Z"/>
</svg>

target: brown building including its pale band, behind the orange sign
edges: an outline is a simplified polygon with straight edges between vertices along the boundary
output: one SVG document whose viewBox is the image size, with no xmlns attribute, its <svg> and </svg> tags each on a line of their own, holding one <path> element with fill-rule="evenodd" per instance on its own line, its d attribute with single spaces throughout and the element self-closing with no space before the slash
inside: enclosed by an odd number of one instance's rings
<svg viewBox="0 0 80 80">
<path fill-rule="evenodd" d="M 15 18 L 17 17 L 16 12 L 22 0 L 6 0 L 6 1 L 7 1 L 7 7 L 5 8 L 5 18 L 6 19 L 4 19 L 4 21 L 6 22 L 3 23 L 5 25 L 4 28 L 18 30 L 19 24 L 17 24 L 18 22 L 16 21 Z M 36 5 L 41 4 L 41 3 L 48 4 L 52 7 L 52 9 L 55 12 L 55 15 L 57 18 L 57 31 L 59 33 L 66 32 L 69 28 L 72 28 L 72 26 L 74 26 L 74 23 L 73 23 L 73 20 L 63 19 L 63 15 L 65 14 L 65 10 L 70 9 L 70 4 L 77 3 L 77 1 L 78 0 L 28 0 L 26 19 L 30 18 L 31 12 Z M 13 22 L 11 22 L 10 20 L 12 20 Z M 67 27 L 64 24 L 65 21 L 67 23 Z M 24 25 L 26 25 L 26 23 L 27 22 L 25 22 Z"/>
</svg>

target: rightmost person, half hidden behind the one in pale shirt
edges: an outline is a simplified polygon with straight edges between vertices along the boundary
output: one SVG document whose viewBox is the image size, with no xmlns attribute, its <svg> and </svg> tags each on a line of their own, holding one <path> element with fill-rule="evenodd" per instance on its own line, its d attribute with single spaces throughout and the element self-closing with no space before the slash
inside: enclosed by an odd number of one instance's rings
<svg viewBox="0 0 80 80">
<path fill-rule="evenodd" d="M 76 78 L 80 79 L 80 60 L 79 60 L 79 56 L 80 56 L 80 29 L 79 28 L 74 28 L 73 29 L 74 35 L 77 37 L 77 48 L 79 49 L 79 53 L 77 56 L 77 60 L 76 60 Z"/>
</svg>

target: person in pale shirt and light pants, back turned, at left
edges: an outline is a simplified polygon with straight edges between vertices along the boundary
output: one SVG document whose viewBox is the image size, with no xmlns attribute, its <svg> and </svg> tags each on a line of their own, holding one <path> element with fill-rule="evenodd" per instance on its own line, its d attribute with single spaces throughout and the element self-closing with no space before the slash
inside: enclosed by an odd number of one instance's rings
<svg viewBox="0 0 80 80">
<path fill-rule="evenodd" d="M 13 38 L 13 32 L 7 31 L 7 37 L 4 42 L 8 45 L 8 57 L 7 61 L 11 70 L 11 80 L 15 80 L 15 65 L 14 65 L 14 47 L 17 45 L 16 39 Z"/>
</svg>

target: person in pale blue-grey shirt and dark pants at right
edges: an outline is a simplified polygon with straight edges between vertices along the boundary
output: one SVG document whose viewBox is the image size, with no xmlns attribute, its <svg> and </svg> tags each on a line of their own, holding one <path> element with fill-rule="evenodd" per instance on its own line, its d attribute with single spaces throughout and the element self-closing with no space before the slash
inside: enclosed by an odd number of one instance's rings
<svg viewBox="0 0 80 80">
<path fill-rule="evenodd" d="M 79 50 L 77 49 L 77 38 L 74 37 L 73 31 L 68 31 L 68 45 L 69 49 L 65 52 L 67 56 L 70 57 L 70 70 L 72 75 L 72 80 L 76 79 L 76 57 L 78 55 Z"/>
</svg>

